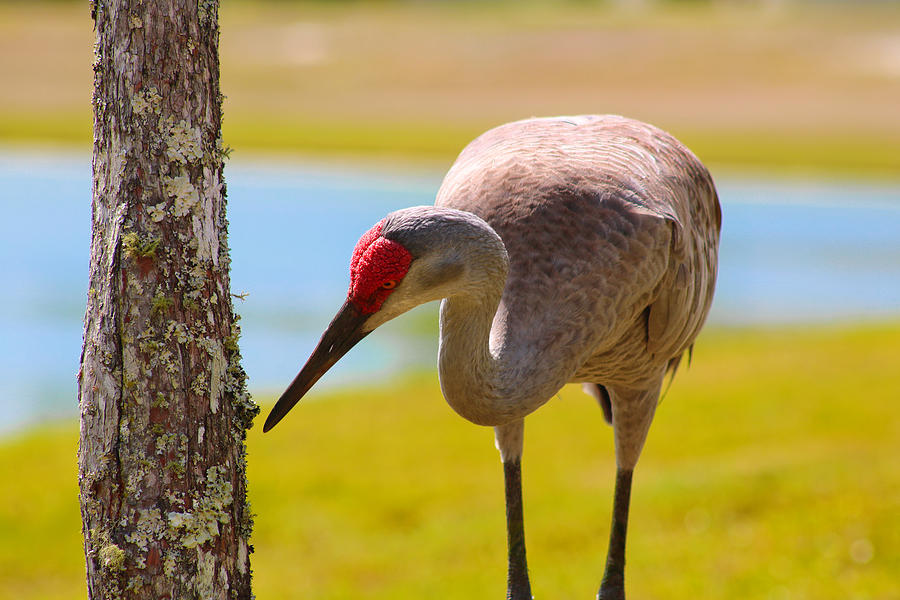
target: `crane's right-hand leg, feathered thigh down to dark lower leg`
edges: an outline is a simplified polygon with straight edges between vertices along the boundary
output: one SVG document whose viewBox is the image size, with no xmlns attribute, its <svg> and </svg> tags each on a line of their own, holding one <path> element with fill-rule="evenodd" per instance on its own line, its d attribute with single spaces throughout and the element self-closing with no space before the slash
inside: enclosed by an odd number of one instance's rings
<svg viewBox="0 0 900 600">
<path fill-rule="evenodd" d="M 661 385 L 660 376 L 659 384 L 649 390 L 608 388 L 616 438 L 616 490 L 606 569 L 597 600 L 625 600 L 625 535 L 628 532 L 631 479 L 656 412 Z"/>
</svg>

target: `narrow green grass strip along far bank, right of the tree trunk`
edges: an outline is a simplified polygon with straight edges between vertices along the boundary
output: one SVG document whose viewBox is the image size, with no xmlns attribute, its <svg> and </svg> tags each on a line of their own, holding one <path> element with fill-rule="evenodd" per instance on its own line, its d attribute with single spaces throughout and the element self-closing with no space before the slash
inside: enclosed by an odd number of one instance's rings
<svg viewBox="0 0 900 600">
<path fill-rule="evenodd" d="M 493 124 L 234 120 L 226 121 L 224 139 L 240 152 L 450 164 L 470 140 Z M 0 137 L 2 131 L 0 122 Z M 781 136 L 771 132 L 691 129 L 673 133 L 714 167 L 888 178 L 900 174 L 900 137 L 881 139 L 844 133 Z"/>
</svg>

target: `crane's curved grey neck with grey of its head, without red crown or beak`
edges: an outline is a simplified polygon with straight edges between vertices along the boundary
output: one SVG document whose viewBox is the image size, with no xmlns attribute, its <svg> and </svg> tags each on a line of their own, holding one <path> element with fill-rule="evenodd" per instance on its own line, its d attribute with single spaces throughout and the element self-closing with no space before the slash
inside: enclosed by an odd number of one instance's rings
<svg viewBox="0 0 900 600">
<path fill-rule="evenodd" d="M 430 300 L 441 303 L 438 368 L 444 398 L 479 425 L 524 417 L 565 383 L 521 327 L 507 327 L 502 302 L 509 256 L 496 231 L 473 213 L 445 206 L 388 215 L 382 235 L 414 257 L 403 283 L 369 319 L 369 330 Z M 521 325 L 521 323 L 517 322 Z"/>
</svg>

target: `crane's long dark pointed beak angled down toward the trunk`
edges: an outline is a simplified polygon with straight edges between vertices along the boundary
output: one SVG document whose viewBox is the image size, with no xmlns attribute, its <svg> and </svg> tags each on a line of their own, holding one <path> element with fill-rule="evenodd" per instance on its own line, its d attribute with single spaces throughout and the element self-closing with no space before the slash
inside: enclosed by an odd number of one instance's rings
<svg viewBox="0 0 900 600">
<path fill-rule="evenodd" d="M 322 339 L 319 340 L 319 344 L 307 359 L 306 364 L 275 403 L 275 407 L 266 418 L 266 424 L 263 425 L 263 432 L 275 427 L 309 391 L 309 388 L 334 366 L 334 363 L 361 339 L 369 335 L 369 331 L 362 329 L 363 323 L 369 316 L 360 312 L 349 300 L 344 303 L 331 321 L 331 325 L 322 334 Z"/>
</svg>

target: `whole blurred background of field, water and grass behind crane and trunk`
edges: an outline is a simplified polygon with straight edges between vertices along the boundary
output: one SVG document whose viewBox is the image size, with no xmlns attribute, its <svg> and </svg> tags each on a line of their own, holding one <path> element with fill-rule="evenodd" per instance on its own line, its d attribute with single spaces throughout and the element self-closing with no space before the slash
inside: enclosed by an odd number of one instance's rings
<svg viewBox="0 0 900 600">
<path fill-rule="evenodd" d="M 530 116 L 642 119 L 710 167 L 724 226 L 709 326 L 638 470 L 630 591 L 900 598 L 900 3 L 219 15 L 232 287 L 264 410 L 343 301 L 359 235 L 430 204 L 468 141 Z M 0 2 L 0 597 L 84 596 L 92 26 L 85 2 Z M 498 461 L 443 405 L 436 336 L 435 306 L 398 319 L 285 430 L 251 432 L 259 597 L 502 595 Z M 592 594 L 606 547 L 611 434 L 579 390 L 560 400 L 526 445 L 538 597 Z"/>
</svg>

